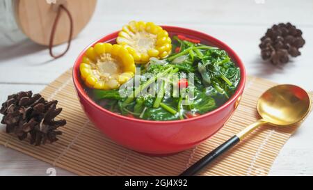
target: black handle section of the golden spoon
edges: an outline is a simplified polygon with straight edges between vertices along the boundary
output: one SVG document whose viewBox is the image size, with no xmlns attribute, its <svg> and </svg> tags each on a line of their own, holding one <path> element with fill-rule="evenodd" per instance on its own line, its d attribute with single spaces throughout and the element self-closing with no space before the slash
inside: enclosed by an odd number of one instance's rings
<svg viewBox="0 0 313 190">
<path fill-rule="evenodd" d="M 205 166 L 210 164 L 214 159 L 216 159 L 218 156 L 222 155 L 226 150 L 232 148 L 236 143 L 240 141 L 240 138 L 238 136 L 233 136 L 225 143 L 218 146 L 218 148 L 212 150 L 209 154 L 205 155 L 200 159 L 199 161 L 195 162 L 192 166 L 190 166 L 186 171 L 181 173 L 179 176 L 191 176 L 195 175 L 199 171 L 202 170 Z"/>
</svg>

